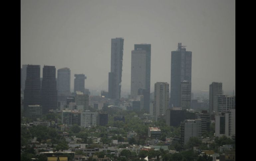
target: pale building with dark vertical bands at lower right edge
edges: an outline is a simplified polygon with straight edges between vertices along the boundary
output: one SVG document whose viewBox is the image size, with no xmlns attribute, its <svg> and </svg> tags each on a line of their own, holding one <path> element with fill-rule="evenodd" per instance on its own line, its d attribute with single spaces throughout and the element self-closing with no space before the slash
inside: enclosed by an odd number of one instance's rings
<svg viewBox="0 0 256 161">
<path fill-rule="evenodd" d="M 215 116 L 215 136 L 222 135 L 229 138 L 235 136 L 235 109 Z"/>
</svg>

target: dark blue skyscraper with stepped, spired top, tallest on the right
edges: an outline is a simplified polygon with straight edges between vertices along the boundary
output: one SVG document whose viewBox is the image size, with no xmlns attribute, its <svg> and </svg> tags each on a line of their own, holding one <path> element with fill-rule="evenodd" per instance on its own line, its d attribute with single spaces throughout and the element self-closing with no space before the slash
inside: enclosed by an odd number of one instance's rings
<svg viewBox="0 0 256 161">
<path fill-rule="evenodd" d="M 178 43 L 177 51 L 171 56 L 171 107 L 181 107 L 181 82 L 189 82 L 191 93 L 192 52 L 186 51 L 182 43 Z M 191 94 L 190 94 L 191 95 Z"/>
</svg>

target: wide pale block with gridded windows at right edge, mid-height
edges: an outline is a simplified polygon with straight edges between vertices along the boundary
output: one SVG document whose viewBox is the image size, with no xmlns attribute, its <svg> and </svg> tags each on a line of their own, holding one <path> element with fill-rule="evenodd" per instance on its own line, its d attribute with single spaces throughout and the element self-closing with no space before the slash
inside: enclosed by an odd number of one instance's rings
<svg viewBox="0 0 256 161">
<path fill-rule="evenodd" d="M 235 96 L 216 95 L 217 98 L 217 112 L 229 112 L 230 109 L 235 109 Z"/>
</svg>

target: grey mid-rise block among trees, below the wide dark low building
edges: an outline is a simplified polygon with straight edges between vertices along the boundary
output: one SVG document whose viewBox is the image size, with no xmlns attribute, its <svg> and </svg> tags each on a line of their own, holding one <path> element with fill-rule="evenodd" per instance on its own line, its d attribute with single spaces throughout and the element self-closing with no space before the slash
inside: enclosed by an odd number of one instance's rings
<svg viewBox="0 0 256 161">
<path fill-rule="evenodd" d="M 181 142 L 187 144 L 191 137 L 201 137 L 201 119 L 184 120 L 181 123 Z"/>
</svg>

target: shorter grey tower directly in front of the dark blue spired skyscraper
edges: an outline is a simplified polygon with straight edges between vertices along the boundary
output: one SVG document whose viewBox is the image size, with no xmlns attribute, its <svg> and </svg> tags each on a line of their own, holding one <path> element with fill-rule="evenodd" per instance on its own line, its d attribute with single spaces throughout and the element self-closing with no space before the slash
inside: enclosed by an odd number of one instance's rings
<svg viewBox="0 0 256 161">
<path fill-rule="evenodd" d="M 181 107 L 182 109 L 191 109 L 191 88 L 188 81 L 181 82 Z"/>
</svg>

